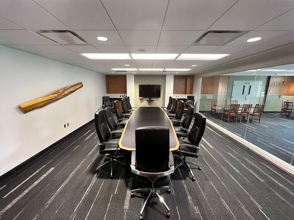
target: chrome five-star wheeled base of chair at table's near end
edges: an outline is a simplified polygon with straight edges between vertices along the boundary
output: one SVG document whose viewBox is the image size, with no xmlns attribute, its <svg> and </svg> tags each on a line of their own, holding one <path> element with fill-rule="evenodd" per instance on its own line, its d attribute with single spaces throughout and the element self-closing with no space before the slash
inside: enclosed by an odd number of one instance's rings
<svg viewBox="0 0 294 220">
<path fill-rule="evenodd" d="M 171 188 L 169 186 L 163 186 L 163 187 L 159 187 L 159 188 L 139 188 L 139 189 L 132 189 L 131 191 L 131 197 L 133 198 L 135 195 L 134 195 L 134 192 L 149 192 L 148 193 L 148 196 L 143 204 L 143 207 L 141 209 L 141 212 L 140 212 L 140 220 L 143 220 L 143 211 L 144 211 L 144 208 L 149 200 L 149 198 L 151 198 L 151 196 L 154 194 L 156 197 L 158 197 L 159 201 L 162 202 L 163 206 L 167 209 L 167 213 L 166 213 L 166 217 L 170 217 L 171 216 L 171 213 L 169 212 L 169 208 L 168 206 L 166 205 L 166 203 L 164 202 L 163 198 L 158 194 L 158 190 L 160 189 L 166 189 L 168 188 L 168 191 L 167 193 L 171 193 Z"/>
</svg>

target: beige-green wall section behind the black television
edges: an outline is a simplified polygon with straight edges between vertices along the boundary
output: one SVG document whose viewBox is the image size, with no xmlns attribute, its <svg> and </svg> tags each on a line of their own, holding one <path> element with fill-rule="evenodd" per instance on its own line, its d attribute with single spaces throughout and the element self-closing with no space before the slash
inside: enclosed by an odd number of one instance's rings
<svg viewBox="0 0 294 220">
<path fill-rule="evenodd" d="M 135 106 L 159 106 L 162 107 L 165 104 L 165 91 L 166 91 L 166 75 L 135 75 L 134 76 L 134 94 L 135 94 Z M 146 101 L 148 98 L 139 100 L 139 85 L 153 84 L 161 85 L 160 98 L 152 98 L 154 101 Z"/>
</svg>

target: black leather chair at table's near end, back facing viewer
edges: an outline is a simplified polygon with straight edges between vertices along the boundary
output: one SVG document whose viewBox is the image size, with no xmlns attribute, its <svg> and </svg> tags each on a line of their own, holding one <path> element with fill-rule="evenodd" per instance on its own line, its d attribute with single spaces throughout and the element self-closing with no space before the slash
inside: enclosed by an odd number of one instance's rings
<svg viewBox="0 0 294 220">
<path fill-rule="evenodd" d="M 135 173 L 135 181 L 146 188 L 133 189 L 134 192 L 148 192 L 140 219 L 143 219 L 143 211 L 148 199 L 156 195 L 167 209 L 166 216 L 170 216 L 169 208 L 156 190 L 168 188 L 173 173 L 173 154 L 169 151 L 169 129 L 166 127 L 141 127 L 135 131 L 136 151 L 132 152 L 131 169 Z M 146 138 L 147 137 L 147 138 Z"/>
</svg>

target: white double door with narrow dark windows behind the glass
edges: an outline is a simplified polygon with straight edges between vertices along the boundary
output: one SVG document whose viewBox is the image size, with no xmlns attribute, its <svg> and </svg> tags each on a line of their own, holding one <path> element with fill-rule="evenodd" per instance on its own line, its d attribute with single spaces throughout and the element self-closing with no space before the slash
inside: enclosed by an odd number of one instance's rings
<svg viewBox="0 0 294 220">
<path fill-rule="evenodd" d="M 262 81 L 234 81 L 231 99 L 238 100 L 238 104 L 259 103 Z M 252 100 L 252 101 L 251 101 Z"/>
</svg>

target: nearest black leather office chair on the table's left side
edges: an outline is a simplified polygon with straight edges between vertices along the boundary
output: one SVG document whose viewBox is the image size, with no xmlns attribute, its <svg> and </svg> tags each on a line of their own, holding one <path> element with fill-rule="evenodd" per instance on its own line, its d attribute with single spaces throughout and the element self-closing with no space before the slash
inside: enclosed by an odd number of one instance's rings
<svg viewBox="0 0 294 220">
<path fill-rule="evenodd" d="M 99 138 L 99 153 L 100 154 L 110 154 L 110 158 L 108 158 L 108 161 L 106 163 L 103 163 L 101 166 L 96 168 L 96 172 L 106 165 L 107 163 L 111 162 L 111 173 L 110 178 L 112 179 L 112 169 L 113 169 L 113 161 L 116 161 L 120 164 L 125 165 L 124 163 L 116 160 L 115 155 L 118 153 L 123 153 L 123 150 L 121 150 L 118 146 L 118 141 L 120 136 L 112 136 L 107 122 L 106 122 L 106 111 L 105 109 L 100 109 L 95 112 L 95 127 L 96 132 Z M 121 157 L 121 156 L 120 156 Z"/>
</svg>

